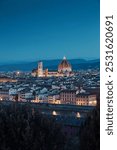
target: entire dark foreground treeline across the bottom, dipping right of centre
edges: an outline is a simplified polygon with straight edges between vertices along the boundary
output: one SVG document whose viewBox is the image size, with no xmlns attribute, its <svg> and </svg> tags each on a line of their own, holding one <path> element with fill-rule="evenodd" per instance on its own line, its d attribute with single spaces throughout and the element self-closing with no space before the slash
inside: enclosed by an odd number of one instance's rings
<svg viewBox="0 0 117 150">
<path fill-rule="evenodd" d="M 31 105 L 0 104 L 0 150 L 99 150 L 99 110 L 69 139 L 63 125 Z"/>
</svg>

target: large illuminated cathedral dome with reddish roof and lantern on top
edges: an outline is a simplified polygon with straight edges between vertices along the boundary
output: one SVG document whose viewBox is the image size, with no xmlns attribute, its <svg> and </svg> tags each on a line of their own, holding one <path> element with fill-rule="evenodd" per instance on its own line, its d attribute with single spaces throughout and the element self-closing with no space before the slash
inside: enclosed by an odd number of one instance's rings
<svg viewBox="0 0 117 150">
<path fill-rule="evenodd" d="M 71 72 L 72 67 L 71 64 L 67 61 L 66 57 L 63 58 L 62 62 L 58 66 L 59 73 Z"/>
</svg>

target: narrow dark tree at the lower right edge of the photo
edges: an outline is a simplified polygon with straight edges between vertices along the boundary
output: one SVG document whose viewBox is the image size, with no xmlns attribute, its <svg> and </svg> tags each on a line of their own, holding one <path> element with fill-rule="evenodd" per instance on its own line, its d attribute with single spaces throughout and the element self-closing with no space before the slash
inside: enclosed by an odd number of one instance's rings
<svg viewBox="0 0 117 150">
<path fill-rule="evenodd" d="M 80 129 L 80 150 L 100 150 L 100 109 L 88 116 Z"/>
</svg>

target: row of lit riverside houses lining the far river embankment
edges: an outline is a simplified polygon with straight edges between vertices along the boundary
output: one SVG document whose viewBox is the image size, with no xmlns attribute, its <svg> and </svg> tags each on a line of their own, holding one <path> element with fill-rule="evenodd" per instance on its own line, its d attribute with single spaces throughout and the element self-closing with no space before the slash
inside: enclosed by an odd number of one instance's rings
<svg viewBox="0 0 117 150">
<path fill-rule="evenodd" d="M 95 94 L 79 92 L 78 90 L 61 90 L 55 93 L 48 93 L 44 88 L 40 93 L 33 90 L 21 89 L 17 92 L 11 92 L 9 89 L 0 89 L 0 100 L 11 100 L 34 103 L 51 103 L 51 104 L 72 104 L 96 106 L 97 99 Z"/>
</svg>

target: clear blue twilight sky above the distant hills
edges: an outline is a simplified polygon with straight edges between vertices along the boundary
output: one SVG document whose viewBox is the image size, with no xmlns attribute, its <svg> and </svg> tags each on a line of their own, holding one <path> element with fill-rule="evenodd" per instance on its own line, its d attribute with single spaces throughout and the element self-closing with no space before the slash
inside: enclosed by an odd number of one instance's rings
<svg viewBox="0 0 117 150">
<path fill-rule="evenodd" d="M 99 0 L 0 0 L 0 62 L 99 58 Z"/>
</svg>

